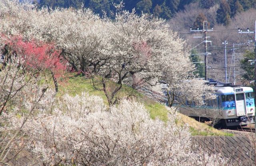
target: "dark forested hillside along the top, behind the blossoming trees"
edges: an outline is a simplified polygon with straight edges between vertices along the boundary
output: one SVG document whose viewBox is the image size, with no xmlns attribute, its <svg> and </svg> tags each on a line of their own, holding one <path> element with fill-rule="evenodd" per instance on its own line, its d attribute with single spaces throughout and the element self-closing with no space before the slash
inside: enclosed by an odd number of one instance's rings
<svg viewBox="0 0 256 166">
<path fill-rule="evenodd" d="M 122 0 L 39 0 L 38 6 L 55 7 L 84 7 L 92 9 L 93 12 L 107 16 L 112 16 L 114 12 L 114 4 L 120 4 Z M 212 6 L 219 4 L 220 8 L 217 11 L 217 22 L 228 24 L 230 18 L 236 13 L 246 11 L 250 8 L 255 8 L 256 0 L 123 0 L 124 9 L 131 11 L 136 9 L 137 14 L 148 13 L 155 16 L 170 19 L 175 16 L 176 12 L 184 10 L 187 4 L 198 2 L 200 8 L 209 9 Z"/>
</svg>

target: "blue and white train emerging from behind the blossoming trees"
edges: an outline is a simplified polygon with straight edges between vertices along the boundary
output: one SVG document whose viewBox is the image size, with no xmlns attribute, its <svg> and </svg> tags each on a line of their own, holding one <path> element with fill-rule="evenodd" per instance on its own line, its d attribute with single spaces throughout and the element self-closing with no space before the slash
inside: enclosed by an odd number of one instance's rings
<svg viewBox="0 0 256 166">
<path fill-rule="evenodd" d="M 201 120 L 220 119 L 222 126 L 244 126 L 254 123 L 255 104 L 253 89 L 231 83 L 215 84 L 214 100 L 207 100 L 205 106 L 196 106 L 186 101 L 180 112 Z"/>
</svg>

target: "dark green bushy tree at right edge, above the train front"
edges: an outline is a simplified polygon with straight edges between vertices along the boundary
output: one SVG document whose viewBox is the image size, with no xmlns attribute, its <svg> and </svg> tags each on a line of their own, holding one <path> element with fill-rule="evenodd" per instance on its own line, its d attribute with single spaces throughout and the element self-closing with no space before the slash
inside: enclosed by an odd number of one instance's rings
<svg viewBox="0 0 256 166">
<path fill-rule="evenodd" d="M 244 59 L 240 60 L 241 68 L 245 71 L 243 78 L 252 81 L 254 80 L 254 64 L 251 64 L 251 61 L 254 60 L 254 52 L 246 51 L 244 54 Z"/>
</svg>

